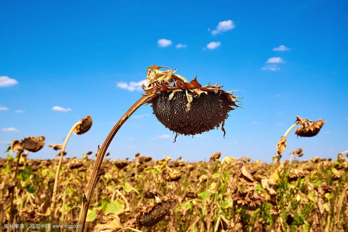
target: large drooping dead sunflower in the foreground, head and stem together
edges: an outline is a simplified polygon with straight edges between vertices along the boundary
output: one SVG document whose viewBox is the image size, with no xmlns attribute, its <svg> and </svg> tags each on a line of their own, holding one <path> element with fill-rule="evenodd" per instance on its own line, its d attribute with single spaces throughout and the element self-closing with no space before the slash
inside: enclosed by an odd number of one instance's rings
<svg viewBox="0 0 348 232">
<path fill-rule="evenodd" d="M 167 70 L 161 71 L 160 68 Z M 147 85 L 142 86 L 146 93 L 119 119 L 100 150 L 98 149 L 98 156 L 82 200 L 79 215 L 79 223 L 82 226 L 77 232 L 82 232 L 84 229 L 89 202 L 105 152 L 120 127 L 140 106 L 152 103 L 153 114 L 160 123 L 176 133 L 175 139 L 178 134 L 201 134 L 219 127 L 220 124 L 225 135 L 223 127 L 225 119 L 229 111 L 239 107 L 240 98 L 233 96 L 234 92 L 223 90 L 222 85 L 208 83 L 202 86 L 196 77 L 188 82 L 175 72 L 176 69 L 172 71 L 165 66 L 150 66 L 146 73 Z"/>
</svg>

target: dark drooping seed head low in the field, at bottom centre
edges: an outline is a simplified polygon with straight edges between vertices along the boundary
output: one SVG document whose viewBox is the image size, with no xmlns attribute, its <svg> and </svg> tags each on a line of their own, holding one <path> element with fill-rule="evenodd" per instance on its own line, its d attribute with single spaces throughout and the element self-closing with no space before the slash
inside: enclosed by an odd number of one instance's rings
<svg viewBox="0 0 348 232">
<path fill-rule="evenodd" d="M 143 226 L 156 225 L 169 213 L 171 206 L 172 202 L 169 201 L 162 201 L 156 204 L 149 212 L 144 213 L 144 215 L 140 216 L 140 224 Z"/>
</svg>

